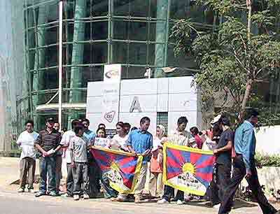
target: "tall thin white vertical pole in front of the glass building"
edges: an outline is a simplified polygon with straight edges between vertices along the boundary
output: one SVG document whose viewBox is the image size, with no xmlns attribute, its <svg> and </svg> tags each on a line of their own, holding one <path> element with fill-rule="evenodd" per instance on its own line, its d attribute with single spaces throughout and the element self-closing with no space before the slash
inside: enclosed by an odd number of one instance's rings
<svg viewBox="0 0 280 214">
<path fill-rule="evenodd" d="M 62 129 L 62 16 L 63 0 L 59 1 L 59 68 L 58 68 L 58 122 Z"/>
</svg>

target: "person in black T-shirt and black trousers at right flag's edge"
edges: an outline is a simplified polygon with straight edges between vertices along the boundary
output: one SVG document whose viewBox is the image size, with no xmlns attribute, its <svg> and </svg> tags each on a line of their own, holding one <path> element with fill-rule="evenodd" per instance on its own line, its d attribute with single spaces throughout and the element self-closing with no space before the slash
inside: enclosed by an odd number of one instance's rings
<svg viewBox="0 0 280 214">
<path fill-rule="evenodd" d="M 218 185 L 218 198 L 223 201 L 225 189 L 230 184 L 230 172 L 232 169 L 232 141 L 233 131 L 230 129 L 230 120 L 227 117 L 221 117 L 219 122 L 220 129 L 223 129 L 218 146 L 214 150 L 216 155 L 216 183 Z M 216 204 L 215 208 L 220 208 Z"/>
</svg>

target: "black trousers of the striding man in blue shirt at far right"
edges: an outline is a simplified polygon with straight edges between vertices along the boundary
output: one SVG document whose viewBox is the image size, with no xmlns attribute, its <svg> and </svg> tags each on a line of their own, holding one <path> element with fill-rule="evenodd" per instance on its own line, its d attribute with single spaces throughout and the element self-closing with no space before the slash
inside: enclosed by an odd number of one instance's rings
<svg viewBox="0 0 280 214">
<path fill-rule="evenodd" d="M 237 155 L 237 157 L 235 157 L 233 166 L 234 169 L 233 169 L 232 180 L 228 185 L 228 188 L 225 190 L 225 197 L 223 198 L 218 214 L 225 214 L 230 212 L 232 200 L 233 197 L 235 196 L 235 192 L 237 191 L 237 188 L 241 183 L 241 180 L 246 175 L 246 168 L 242 155 Z M 248 187 L 253 193 L 253 197 L 255 197 L 255 199 L 258 201 L 258 204 L 260 205 L 260 208 L 262 209 L 262 213 L 263 214 L 276 213 L 276 209 L 271 204 L 269 204 L 269 202 L 265 197 L 265 194 L 262 192 L 262 188 L 260 187 L 260 183 L 258 181 L 257 169 L 255 168 L 254 162 L 251 167 L 251 173 L 252 176 L 250 178 L 246 178 L 246 180 L 248 182 Z"/>
</svg>

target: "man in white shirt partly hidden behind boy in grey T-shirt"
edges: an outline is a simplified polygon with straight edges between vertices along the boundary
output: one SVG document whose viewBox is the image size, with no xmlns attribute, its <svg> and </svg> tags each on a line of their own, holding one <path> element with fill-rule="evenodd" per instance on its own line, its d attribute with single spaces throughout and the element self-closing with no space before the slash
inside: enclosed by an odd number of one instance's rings
<svg viewBox="0 0 280 214">
<path fill-rule="evenodd" d="M 62 135 L 61 144 L 64 148 L 64 157 L 66 160 L 67 166 L 67 178 L 66 178 L 66 194 L 63 194 L 63 197 L 73 197 L 73 173 L 71 167 L 71 150 L 69 148 L 71 139 L 76 136 L 75 132 L 73 131 L 76 126 L 80 124 L 79 120 L 73 120 L 71 122 L 71 130 L 65 131 Z"/>
</svg>

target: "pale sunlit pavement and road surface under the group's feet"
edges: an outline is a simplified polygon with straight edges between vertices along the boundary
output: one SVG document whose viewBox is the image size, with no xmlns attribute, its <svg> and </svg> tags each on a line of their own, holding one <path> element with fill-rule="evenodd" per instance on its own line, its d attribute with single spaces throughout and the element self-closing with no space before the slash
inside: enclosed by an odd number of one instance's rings
<svg viewBox="0 0 280 214">
<path fill-rule="evenodd" d="M 153 214 L 172 214 L 172 213 L 218 213 L 216 209 L 209 208 L 202 202 L 191 202 L 183 206 L 176 204 L 158 205 L 155 202 L 143 204 L 118 203 L 107 199 L 89 199 L 87 201 L 73 201 L 62 197 L 40 197 L 35 198 L 34 194 L 16 192 L 17 185 L 10 185 L 18 179 L 18 159 L 0 157 L 0 210 L 1 214 L 87 214 L 87 213 L 153 213 Z M 38 185 L 35 186 L 38 188 Z M 274 204 L 280 208 L 278 204 Z M 260 208 L 253 203 L 243 201 L 235 202 L 235 209 L 232 214 L 257 214 L 262 213 Z"/>
</svg>

